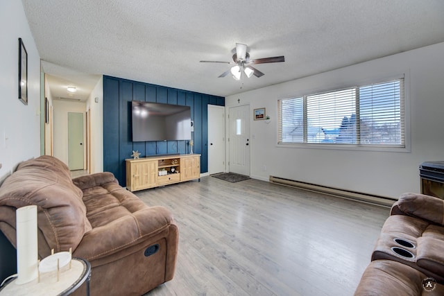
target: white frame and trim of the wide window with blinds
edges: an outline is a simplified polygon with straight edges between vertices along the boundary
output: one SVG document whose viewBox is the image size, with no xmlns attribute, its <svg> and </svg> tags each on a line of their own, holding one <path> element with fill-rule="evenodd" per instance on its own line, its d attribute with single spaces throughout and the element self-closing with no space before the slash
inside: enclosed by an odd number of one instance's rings
<svg viewBox="0 0 444 296">
<path fill-rule="evenodd" d="M 361 144 L 361 143 L 307 143 L 306 139 L 304 143 L 280 143 L 279 142 L 279 128 L 280 128 L 280 101 L 291 99 L 291 98 L 304 98 L 307 96 L 313 96 L 316 94 L 325 94 L 328 92 L 337 92 L 341 91 L 343 89 L 352 89 L 357 87 L 365 87 L 368 85 L 377 85 L 379 83 L 384 82 L 391 82 L 393 80 L 400 80 L 403 79 L 403 87 L 404 89 L 404 100 L 400 100 L 400 105 L 404 107 L 404 114 L 401 116 L 401 120 L 404 120 L 404 147 L 400 146 L 389 146 L 389 145 L 377 145 L 377 144 Z M 276 118 L 278 119 L 277 122 L 277 132 L 276 132 L 276 141 L 275 146 L 277 148 L 309 148 L 309 149 L 325 149 L 325 150 L 357 150 L 357 151 L 378 151 L 378 152 L 395 152 L 395 153 L 410 153 L 411 152 L 411 135 L 410 135 L 410 103 L 409 103 L 409 85 L 410 85 L 410 75 L 409 71 L 404 72 L 403 74 L 393 75 L 393 76 L 387 76 L 386 78 L 379 78 L 379 79 L 366 79 L 361 80 L 358 83 L 352 84 L 352 86 L 342 86 L 338 88 L 329 88 L 324 91 L 315 91 L 315 92 L 303 92 L 303 94 L 296 95 L 296 96 L 286 96 L 282 98 L 278 98 L 277 100 L 277 112 L 276 112 Z M 359 91 L 358 91 L 359 92 Z M 305 101 L 305 99 L 304 99 Z M 357 101 L 359 101 L 359 95 L 357 96 Z M 359 102 L 357 102 L 359 104 Z M 303 103 L 304 105 L 304 123 L 307 122 L 307 105 L 306 102 Z M 357 114 L 359 116 L 359 114 Z M 305 129 L 305 127 L 304 127 Z M 306 137 L 306 134 L 305 134 Z"/>
</svg>

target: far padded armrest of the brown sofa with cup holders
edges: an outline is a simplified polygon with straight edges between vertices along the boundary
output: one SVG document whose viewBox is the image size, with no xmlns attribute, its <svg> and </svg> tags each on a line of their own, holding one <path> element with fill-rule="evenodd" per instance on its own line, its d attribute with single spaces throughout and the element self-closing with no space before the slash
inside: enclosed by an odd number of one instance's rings
<svg viewBox="0 0 444 296">
<path fill-rule="evenodd" d="M 403 193 L 393 204 L 391 215 L 407 215 L 444 225 L 444 200 L 420 193 Z"/>
</svg>

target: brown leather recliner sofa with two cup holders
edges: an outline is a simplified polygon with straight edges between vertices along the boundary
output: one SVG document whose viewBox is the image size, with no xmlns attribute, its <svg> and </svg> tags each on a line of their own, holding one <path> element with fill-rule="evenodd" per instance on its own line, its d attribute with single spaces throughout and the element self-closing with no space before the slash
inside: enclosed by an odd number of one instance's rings
<svg viewBox="0 0 444 296">
<path fill-rule="evenodd" d="M 393 204 L 355 292 L 364 295 L 444 295 L 444 200 L 404 193 Z"/>
</svg>

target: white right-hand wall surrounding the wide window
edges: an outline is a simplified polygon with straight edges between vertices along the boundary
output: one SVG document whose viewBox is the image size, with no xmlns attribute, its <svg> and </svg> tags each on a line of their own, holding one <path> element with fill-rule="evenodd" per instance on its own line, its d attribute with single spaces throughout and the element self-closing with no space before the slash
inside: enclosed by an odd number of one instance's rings
<svg viewBox="0 0 444 296">
<path fill-rule="evenodd" d="M 444 43 L 391 55 L 280 85 L 228 96 L 227 108 L 250 104 L 251 177 L 270 175 L 398 198 L 420 192 L 418 166 L 444 159 Z M 277 146 L 278 99 L 350 87 L 368 80 L 407 74 L 411 150 L 404 153 L 282 148 Z M 256 79 L 256 78 L 250 78 Z M 248 80 L 246 81 L 248 83 Z M 271 123 L 253 121 L 253 109 L 266 107 Z M 229 130 L 228 128 L 226 130 Z M 228 137 L 228 135 L 227 135 Z M 228 159 L 227 159 L 228 161 Z M 263 171 L 266 166 L 266 171 Z"/>
</svg>

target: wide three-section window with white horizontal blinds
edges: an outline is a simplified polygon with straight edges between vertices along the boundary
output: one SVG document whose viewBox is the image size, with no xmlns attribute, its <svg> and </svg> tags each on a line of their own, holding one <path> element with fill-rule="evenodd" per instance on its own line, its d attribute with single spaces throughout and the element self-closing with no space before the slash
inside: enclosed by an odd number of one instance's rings
<svg viewBox="0 0 444 296">
<path fill-rule="evenodd" d="M 404 78 L 278 101 L 278 143 L 405 148 Z"/>
</svg>

